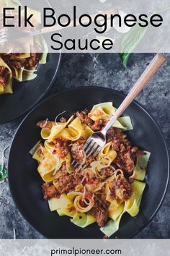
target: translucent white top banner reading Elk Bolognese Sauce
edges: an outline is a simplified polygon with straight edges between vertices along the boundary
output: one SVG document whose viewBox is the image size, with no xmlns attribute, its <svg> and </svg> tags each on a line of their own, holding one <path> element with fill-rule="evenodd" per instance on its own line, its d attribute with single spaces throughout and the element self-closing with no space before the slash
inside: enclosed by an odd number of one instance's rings
<svg viewBox="0 0 170 256">
<path fill-rule="evenodd" d="M 0 13 L 1 53 L 170 52 L 169 0 L 0 0 Z"/>
</svg>

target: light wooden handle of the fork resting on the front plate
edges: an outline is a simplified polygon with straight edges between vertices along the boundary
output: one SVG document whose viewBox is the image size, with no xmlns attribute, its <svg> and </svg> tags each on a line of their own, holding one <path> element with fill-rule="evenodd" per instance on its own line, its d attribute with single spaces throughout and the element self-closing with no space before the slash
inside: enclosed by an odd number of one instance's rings
<svg viewBox="0 0 170 256">
<path fill-rule="evenodd" d="M 161 65 L 166 59 L 161 54 L 156 54 L 151 63 L 148 65 L 146 70 L 140 76 L 138 81 L 135 83 L 133 88 L 130 90 L 130 93 L 126 96 L 125 100 L 122 101 L 122 104 L 114 114 L 114 119 L 117 119 L 125 109 L 130 105 L 130 103 L 136 98 L 140 91 L 146 86 L 147 82 L 151 80 L 154 74 L 158 71 Z"/>
</svg>

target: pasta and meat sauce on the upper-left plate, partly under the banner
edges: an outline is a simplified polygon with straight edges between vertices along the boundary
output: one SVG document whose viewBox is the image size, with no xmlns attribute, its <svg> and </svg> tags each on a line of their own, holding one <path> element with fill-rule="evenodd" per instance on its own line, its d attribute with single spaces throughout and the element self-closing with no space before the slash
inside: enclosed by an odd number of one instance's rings
<svg viewBox="0 0 170 256">
<path fill-rule="evenodd" d="M 0 7 L 10 7 L 18 9 L 22 4 L 18 0 L 0 0 Z M 10 12 L 12 14 L 12 12 Z M 35 9 L 27 7 L 27 14 L 33 14 L 34 29 L 41 25 L 41 13 Z M 21 12 L 23 22 L 24 9 Z M 1 22 L 0 22 L 1 28 Z M 26 32 L 28 27 L 21 26 L 20 30 Z M 27 31 L 28 32 L 28 31 Z M 24 53 L 18 53 L 21 50 Z M 17 51 L 16 51 L 17 50 Z M 13 78 L 19 82 L 35 79 L 38 64 L 45 64 L 48 56 L 48 46 L 42 35 L 30 36 L 29 38 L 19 38 L 15 43 L 6 42 L 4 53 L 0 53 L 0 95 L 13 93 Z M 17 53 L 15 53 L 17 52 Z"/>
</svg>

